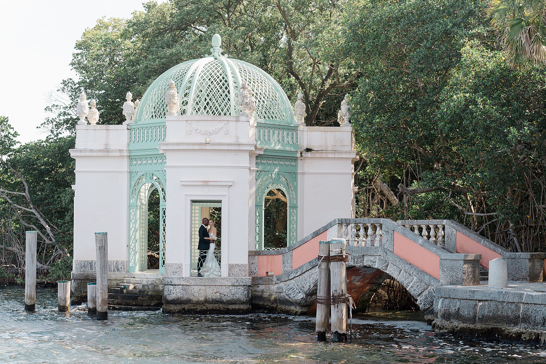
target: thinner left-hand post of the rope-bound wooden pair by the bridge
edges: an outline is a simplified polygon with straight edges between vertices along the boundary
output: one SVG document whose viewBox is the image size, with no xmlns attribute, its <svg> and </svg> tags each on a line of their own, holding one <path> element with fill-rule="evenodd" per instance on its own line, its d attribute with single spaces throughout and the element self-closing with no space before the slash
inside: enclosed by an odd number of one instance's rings
<svg viewBox="0 0 546 364">
<path fill-rule="evenodd" d="M 326 341 L 328 324 L 330 321 L 330 268 L 328 256 L 330 255 L 330 242 L 318 242 L 318 282 L 317 282 L 317 341 Z M 325 258 L 322 258 L 322 256 Z M 322 261 L 321 261 L 322 258 Z"/>
</svg>

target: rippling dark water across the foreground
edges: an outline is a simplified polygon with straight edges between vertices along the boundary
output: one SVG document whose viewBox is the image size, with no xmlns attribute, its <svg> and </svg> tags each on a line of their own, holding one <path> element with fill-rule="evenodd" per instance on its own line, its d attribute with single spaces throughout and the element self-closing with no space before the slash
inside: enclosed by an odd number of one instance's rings
<svg viewBox="0 0 546 364">
<path fill-rule="evenodd" d="M 84 306 L 57 312 L 56 289 L 38 289 L 36 312 L 24 289 L 0 289 L 1 363 L 544 363 L 546 347 L 480 342 L 430 332 L 419 315 L 353 319 L 353 342 L 316 343 L 314 318 L 282 314 L 167 315 Z M 411 314 L 416 315 L 416 314 Z"/>
</svg>

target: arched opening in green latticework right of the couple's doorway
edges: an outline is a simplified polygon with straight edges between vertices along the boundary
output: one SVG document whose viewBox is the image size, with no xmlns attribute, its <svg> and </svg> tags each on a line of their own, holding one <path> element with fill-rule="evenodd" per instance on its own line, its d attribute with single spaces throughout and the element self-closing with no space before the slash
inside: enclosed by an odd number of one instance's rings
<svg viewBox="0 0 546 364">
<path fill-rule="evenodd" d="M 288 245 L 288 200 L 281 188 L 271 188 L 264 196 L 264 249 Z"/>
</svg>

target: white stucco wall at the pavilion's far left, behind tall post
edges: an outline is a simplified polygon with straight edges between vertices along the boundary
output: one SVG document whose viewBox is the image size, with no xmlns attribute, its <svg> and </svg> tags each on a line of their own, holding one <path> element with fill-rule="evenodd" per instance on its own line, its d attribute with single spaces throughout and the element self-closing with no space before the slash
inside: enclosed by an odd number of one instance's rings
<svg viewBox="0 0 546 364">
<path fill-rule="evenodd" d="M 74 186 L 74 259 L 95 260 L 95 232 L 108 232 L 108 259 L 127 260 L 128 129 L 78 125 Z"/>
</svg>

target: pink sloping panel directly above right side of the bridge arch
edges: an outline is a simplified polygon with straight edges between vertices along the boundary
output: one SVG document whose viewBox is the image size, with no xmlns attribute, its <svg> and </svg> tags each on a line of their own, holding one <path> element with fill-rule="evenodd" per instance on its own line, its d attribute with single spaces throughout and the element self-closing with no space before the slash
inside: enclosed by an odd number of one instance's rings
<svg viewBox="0 0 546 364">
<path fill-rule="evenodd" d="M 396 231 L 394 232 L 393 250 L 394 254 L 400 256 L 403 260 L 429 273 L 432 277 L 440 279 L 440 256 Z"/>
</svg>

